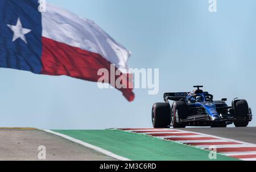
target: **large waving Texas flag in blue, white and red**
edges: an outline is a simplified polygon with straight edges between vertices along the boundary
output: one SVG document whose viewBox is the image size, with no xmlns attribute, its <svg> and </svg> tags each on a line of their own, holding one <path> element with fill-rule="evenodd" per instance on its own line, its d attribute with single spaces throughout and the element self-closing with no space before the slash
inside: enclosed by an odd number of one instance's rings
<svg viewBox="0 0 256 172">
<path fill-rule="evenodd" d="M 112 86 L 133 101 L 130 52 L 92 20 L 49 4 L 39 12 L 39 6 L 38 0 L 0 1 L 0 67 L 95 82 L 102 77 L 98 70 L 105 68 L 108 83 L 114 83 L 113 72 L 120 74 L 115 80 L 125 78 L 126 87 Z"/>
</svg>

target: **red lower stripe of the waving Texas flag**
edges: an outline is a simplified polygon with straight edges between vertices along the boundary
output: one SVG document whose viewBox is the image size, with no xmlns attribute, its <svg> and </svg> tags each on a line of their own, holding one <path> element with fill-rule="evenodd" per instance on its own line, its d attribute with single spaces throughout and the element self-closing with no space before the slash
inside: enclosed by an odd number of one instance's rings
<svg viewBox="0 0 256 172">
<path fill-rule="evenodd" d="M 109 71 L 110 83 L 110 65 L 111 63 L 103 58 L 100 54 L 91 53 L 90 51 L 75 48 L 61 42 L 43 37 L 42 53 L 42 74 L 46 75 L 67 75 L 73 78 L 97 82 L 101 76 L 98 76 L 98 70 L 106 68 Z M 116 72 L 118 69 L 115 68 Z M 112 74 L 113 75 L 113 74 Z M 117 80 L 120 76 L 115 76 Z M 127 80 L 127 88 L 118 89 L 128 101 L 134 100 L 133 83 L 129 83 L 129 77 L 132 75 L 121 74 L 121 77 Z M 112 85 L 115 87 L 115 85 Z M 116 87 L 115 87 L 116 88 Z"/>
</svg>

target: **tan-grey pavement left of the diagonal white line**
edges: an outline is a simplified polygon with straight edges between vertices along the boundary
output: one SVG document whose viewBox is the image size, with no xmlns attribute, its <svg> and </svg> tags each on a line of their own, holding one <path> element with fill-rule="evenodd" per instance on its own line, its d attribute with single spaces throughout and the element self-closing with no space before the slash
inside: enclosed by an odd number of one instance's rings
<svg viewBox="0 0 256 172">
<path fill-rule="evenodd" d="M 38 159 L 38 147 L 46 147 L 46 160 L 115 160 L 112 157 L 72 143 L 62 137 L 48 134 L 40 130 L 3 130 L 0 129 L 0 160 L 32 160 Z"/>
</svg>

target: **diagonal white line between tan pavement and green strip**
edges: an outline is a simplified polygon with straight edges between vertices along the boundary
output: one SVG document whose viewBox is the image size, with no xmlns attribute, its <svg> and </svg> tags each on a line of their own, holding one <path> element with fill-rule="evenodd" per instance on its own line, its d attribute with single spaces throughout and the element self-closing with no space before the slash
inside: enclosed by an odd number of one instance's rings
<svg viewBox="0 0 256 172">
<path fill-rule="evenodd" d="M 100 153 L 105 154 L 106 156 L 109 156 L 109 157 L 113 157 L 113 158 L 115 158 L 117 160 L 120 160 L 120 161 L 131 161 L 128 158 L 118 156 L 117 154 L 114 154 L 112 152 L 106 151 L 105 149 L 96 147 L 96 146 L 91 145 L 89 143 L 85 143 L 84 141 L 77 140 L 77 139 L 75 139 L 73 137 L 70 137 L 70 136 L 67 136 L 67 135 L 64 135 L 64 134 L 60 134 L 59 132 L 54 132 L 54 131 L 51 131 L 51 130 L 43 130 L 43 131 L 51 133 L 53 135 L 57 135 L 57 136 L 63 137 L 63 138 L 68 139 L 68 140 L 71 140 L 71 141 L 73 141 L 73 142 L 75 142 L 77 144 L 83 145 L 86 148 L 93 149 L 94 151 L 100 152 Z"/>
</svg>

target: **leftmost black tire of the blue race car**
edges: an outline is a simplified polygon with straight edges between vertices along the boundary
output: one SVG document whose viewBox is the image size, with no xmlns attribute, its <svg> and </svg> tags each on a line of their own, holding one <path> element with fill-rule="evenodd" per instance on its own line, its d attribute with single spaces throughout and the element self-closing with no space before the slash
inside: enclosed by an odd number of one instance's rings
<svg viewBox="0 0 256 172">
<path fill-rule="evenodd" d="M 152 108 L 152 124 L 154 128 L 170 128 L 171 108 L 167 103 L 156 103 Z"/>
</svg>

